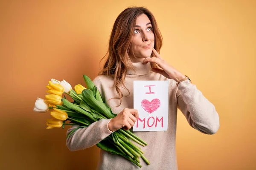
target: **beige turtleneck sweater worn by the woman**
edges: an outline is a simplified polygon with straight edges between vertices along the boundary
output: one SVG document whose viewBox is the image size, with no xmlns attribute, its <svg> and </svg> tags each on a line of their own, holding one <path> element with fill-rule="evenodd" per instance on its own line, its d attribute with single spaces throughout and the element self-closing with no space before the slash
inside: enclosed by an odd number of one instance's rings
<svg viewBox="0 0 256 170">
<path fill-rule="evenodd" d="M 168 130 L 166 131 L 150 131 L 150 132 L 134 132 L 135 135 L 148 143 L 142 147 L 144 156 L 150 161 L 147 165 L 140 158 L 142 168 L 128 161 L 122 156 L 112 155 L 105 150 L 100 150 L 100 158 L 98 169 L 100 170 L 177 170 L 177 158 L 175 150 L 176 125 L 177 125 L 177 108 L 184 114 L 189 125 L 196 130 L 214 134 L 219 128 L 219 116 L 209 100 L 207 100 L 201 91 L 196 88 L 189 80 L 180 82 L 178 87 L 173 79 L 167 79 L 161 74 L 154 73 L 150 70 L 150 63 L 143 65 L 142 62 L 133 63 L 135 73 L 128 71 L 125 77 L 125 88 L 120 88 L 124 97 L 119 107 L 119 99 L 111 99 L 117 97 L 115 87 L 113 87 L 113 78 L 100 75 L 93 82 L 99 89 L 102 98 L 106 104 L 112 109 L 113 113 L 120 113 L 124 108 L 133 108 L 133 81 L 134 80 L 168 80 L 169 81 L 169 115 Z M 140 114 L 140 113 L 139 113 Z M 71 151 L 82 150 L 91 147 L 102 139 L 109 136 L 112 132 L 108 129 L 110 119 L 102 119 L 94 122 L 88 127 L 80 128 L 67 139 L 67 147 Z M 67 134 L 77 126 L 72 126 L 67 130 Z M 86 168 L 85 168 L 86 169 Z"/>
</svg>

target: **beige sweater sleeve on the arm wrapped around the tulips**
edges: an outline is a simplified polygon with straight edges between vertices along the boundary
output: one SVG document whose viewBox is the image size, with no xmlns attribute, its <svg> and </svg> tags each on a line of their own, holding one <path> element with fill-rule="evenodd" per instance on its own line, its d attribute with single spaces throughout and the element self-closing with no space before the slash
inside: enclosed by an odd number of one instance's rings
<svg viewBox="0 0 256 170">
<path fill-rule="evenodd" d="M 99 89 L 100 94 L 102 94 L 99 77 L 96 77 L 93 82 Z M 88 127 L 82 127 L 76 130 L 76 132 L 70 135 L 66 140 L 68 149 L 70 151 L 86 149 L 108 137 L 112 133 L 112 131 L 108 129 L 108 123 L 110 120 L 111 119 L 101 119 L 99 121 L 93 122 Z M 79 126 L 71 126 L 67 130 L 67 135 L 76 127 Z"/>
</svg>

